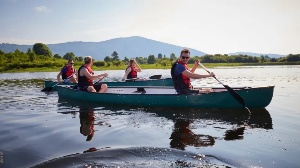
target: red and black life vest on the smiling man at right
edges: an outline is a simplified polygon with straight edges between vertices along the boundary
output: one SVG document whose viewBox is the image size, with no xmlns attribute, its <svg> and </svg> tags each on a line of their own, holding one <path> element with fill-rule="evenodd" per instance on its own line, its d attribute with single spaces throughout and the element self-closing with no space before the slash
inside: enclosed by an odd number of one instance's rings
<svg viewBox="0 0 300 168">
<path fill-rule="evenodd" d="M 182 61 L 180 60 L 174 62 L 174 64 L 171 67 L 171 76 L 172 76 L 174 88 L 176 90 L 184 90 L 184 89 L 192 88 L 189 77 L 184 76 L 182 73 L 181 75 L 178 76 L 175 75 L 175 67 L 177 64 L 184 65 L 184 67 L 189 71 L 187 64 L 182 63 Z"/>
</svg>

